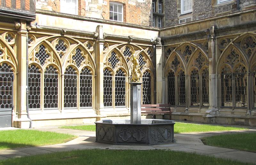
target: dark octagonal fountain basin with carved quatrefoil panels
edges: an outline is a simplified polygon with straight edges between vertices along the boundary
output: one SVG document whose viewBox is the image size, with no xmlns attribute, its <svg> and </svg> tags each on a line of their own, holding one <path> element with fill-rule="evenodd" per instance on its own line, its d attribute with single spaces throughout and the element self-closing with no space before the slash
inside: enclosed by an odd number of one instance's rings
<svg viewBox="0 0 256 165">
<path fill-rule="evenodd" d="M 130 120 L 100 120 L 95 124 L 96 142 L 131 145 L 174 142 L 173 120 L 142 119 L 141 124 L 130 124 Z"/>
</svg>

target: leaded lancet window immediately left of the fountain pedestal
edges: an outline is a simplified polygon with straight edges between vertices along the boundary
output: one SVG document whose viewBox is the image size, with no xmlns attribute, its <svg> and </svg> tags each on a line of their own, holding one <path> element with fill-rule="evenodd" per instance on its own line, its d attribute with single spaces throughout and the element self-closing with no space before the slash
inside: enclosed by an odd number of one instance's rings
<svg viewBox="0 0 256 165">
<path fill-rule="evenodd" d="M 125 75 L 121 69 L 115 76 L 115 106 L 125 106 Z"/>
</svg>

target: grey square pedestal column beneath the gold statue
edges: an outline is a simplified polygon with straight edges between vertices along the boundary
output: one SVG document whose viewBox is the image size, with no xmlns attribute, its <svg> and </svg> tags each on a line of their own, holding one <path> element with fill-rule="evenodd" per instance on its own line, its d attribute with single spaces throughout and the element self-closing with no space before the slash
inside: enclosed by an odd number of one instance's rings
<svg viewBox="0 0 256 165">
<path fill-rule="evenodd" d="M 141 124 L 141 83 L 132 82 L 131 86 L 131 124 Z"/>
</svg>

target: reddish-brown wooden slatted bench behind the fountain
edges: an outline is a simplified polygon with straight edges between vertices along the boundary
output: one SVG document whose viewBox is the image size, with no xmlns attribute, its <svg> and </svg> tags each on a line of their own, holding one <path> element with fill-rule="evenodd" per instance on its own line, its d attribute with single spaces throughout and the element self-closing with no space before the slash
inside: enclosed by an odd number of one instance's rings
<svg viewBox="0 0 256 165">
<path fill-rule="evenodd" d="M 169 114 L 172 119 L 172 108 L 170 104 L 141 104 L 141 114 L 164 115 Z"/>
</svg>

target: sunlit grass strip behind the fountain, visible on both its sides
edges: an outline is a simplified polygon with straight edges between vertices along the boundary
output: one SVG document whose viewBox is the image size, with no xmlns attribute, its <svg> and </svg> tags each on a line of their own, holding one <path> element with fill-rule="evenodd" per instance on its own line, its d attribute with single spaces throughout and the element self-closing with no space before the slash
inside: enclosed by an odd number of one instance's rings
<svg viewBox="0 0 256 165">
<path fill-rule="evenodd" d="M 61 126 L 60 128 L 76 129 L 84 131 L 95 131 L 95 125 L 79 125 L 79 126 Z M 244 130 L 245 128 L 237 128 L 230 126 L 213 126 L 207 124 L 190 124 L 176 122 L 174 125 L 174 133 L 190 133 L 190 132 L 212 132 L 212 131 L 231 131 Z"/>
</svg>

